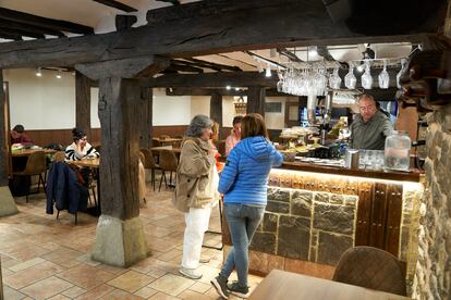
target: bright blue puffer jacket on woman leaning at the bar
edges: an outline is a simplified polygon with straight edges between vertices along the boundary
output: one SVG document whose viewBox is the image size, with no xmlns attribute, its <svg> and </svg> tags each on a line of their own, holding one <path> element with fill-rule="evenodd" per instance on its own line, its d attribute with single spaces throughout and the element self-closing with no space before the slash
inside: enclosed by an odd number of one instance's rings
<svg viewBox="0 0 451 300">
<path fill-rule="evenodd" d="M 282 161 L 282 154 L 261 136 L 240 141 L 227 158 L 219 180 L 224 203 L 266 205 L 269 172 Z"/>
</svg>

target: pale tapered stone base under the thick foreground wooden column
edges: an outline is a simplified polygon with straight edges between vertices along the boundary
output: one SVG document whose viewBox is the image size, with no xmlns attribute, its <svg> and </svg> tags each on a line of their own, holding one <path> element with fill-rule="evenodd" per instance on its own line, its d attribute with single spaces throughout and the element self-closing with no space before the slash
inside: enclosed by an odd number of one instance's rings
<svg viewBox="0 0 451 300">
<path fill-rule="evenodd" d="M 138 216 L 122 221 L 100 215 L 92 259 L 109 265 L 127 267 L 150 255 Z"/>
</svg>

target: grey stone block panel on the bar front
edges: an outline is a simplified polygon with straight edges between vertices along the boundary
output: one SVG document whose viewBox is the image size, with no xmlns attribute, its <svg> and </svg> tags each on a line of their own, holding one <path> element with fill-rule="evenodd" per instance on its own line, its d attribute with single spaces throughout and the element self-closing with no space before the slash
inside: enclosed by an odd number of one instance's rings
<svg viewBox="0 0 451 300">
<path fill-rule="evenodd" d="M 336 265 L 354 245 L 357 200 L 356 196 L 271 187 L 249 249 Z"/>
</svg>

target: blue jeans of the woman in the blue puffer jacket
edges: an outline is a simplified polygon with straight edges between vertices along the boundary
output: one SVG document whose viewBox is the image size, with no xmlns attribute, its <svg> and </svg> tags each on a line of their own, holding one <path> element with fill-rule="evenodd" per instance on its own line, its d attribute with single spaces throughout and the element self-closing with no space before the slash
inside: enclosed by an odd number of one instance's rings
<svg viewBox="0 0 451 300">
<path fill-rule="evenodd" d="M 226 203 L 224 212 L 233 247 L 219 275 L 228 279 L 233 268 L 235 268 L 239 285 L 247 287 L 248 247 L 258 224 L 261 222 L 265 207 Z"/>
</svg>

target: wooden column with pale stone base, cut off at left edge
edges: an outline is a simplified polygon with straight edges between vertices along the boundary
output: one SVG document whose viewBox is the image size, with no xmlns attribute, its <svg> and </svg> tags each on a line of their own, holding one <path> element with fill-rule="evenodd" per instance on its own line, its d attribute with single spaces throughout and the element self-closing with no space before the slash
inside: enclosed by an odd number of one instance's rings
<svg viewBox="0 0 451 300">
<path fill-rule="evenodd" d="M 10 120 L 2 70 L 0 70 L 0 216 L 5 216 L 15 214 L 19 211 L 8 186 L 10 162 Z"/>
</svg>

